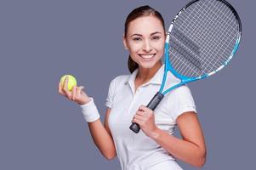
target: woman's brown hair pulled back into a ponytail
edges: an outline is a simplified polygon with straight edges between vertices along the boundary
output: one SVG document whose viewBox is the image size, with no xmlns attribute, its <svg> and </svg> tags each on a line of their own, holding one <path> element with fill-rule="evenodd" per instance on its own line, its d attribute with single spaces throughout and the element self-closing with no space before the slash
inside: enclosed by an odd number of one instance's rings
<svg viewBox="0 0 256 170">
<path fill-rule="evenodd" d="M 134 8 L 134 10 L 130 14 L 128 14 L 125 24 L 124 24 L 124 37 L 127 36 L 128 25 L 130 24 L 131 21 L 136 20 L 137 18 L 142 17 L 142 16 L 150 16 L 150 15 L 153 15 L 157 19 L 159 19 L 161 21 L 162 27 L 164 29 L 164 20 L 162 18 L 162 15 L 158 11 L 156 11 L 154 8 L 151 8 L 150 6 L 145 5 L 145 6 L 141 6 L 138 8 Z M 129 55 L 128 70 L 132 73 L 138 68 L 138 66 L 139 65 L 137 63 L 135 63 L 134 60 Z"/>
</svg>

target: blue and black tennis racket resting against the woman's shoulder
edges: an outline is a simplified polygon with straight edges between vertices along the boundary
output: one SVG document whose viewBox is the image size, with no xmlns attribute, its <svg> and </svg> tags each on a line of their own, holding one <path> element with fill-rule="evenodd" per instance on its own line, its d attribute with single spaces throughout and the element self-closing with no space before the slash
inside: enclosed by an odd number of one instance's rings
<svg viewBox="0 0 256 170">
<path fill-rule="evenodd" d="M 225 0 L 194 0 L 185 5 L 168 29 L 162 86 L 146 107 L 154 111 L 174 88 L 223 69 L 236 53 L 241 35 L 239 15 Z M 168 71 L 180 82 L 163 91 Z M 130 129 L 139 133 L 139 124 L 133 122 Z"/>
</svg>

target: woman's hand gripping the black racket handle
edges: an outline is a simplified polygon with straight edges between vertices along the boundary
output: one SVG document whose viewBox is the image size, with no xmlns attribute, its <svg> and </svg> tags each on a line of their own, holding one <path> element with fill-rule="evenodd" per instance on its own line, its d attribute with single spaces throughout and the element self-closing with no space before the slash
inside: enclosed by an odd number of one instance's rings
<svg viewBox="0 0 256 170">
<path fill-rule="evenodd" d="M 139 110 L 136 111 L 132 122 L 138 123 L 141 130 L 148 137 L 153 138 L 156 136 L 158 127 L 156 127 L 155 115 L 151 109 L 145 107 L 144 105 L 140 105 Z"/>
</svg>

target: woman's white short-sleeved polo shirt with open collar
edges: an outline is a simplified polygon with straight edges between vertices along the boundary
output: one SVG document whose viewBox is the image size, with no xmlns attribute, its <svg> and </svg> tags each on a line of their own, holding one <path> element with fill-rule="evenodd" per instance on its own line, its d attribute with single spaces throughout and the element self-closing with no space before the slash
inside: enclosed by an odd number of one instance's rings
<svg viewBox="0 0 256 170">
<path fill-rule="evenodd" d="M 109 127 L 116 146 L 117 157 L 122 170 L 181 169 L 174 157 L 164 150 L 142 130 L 134 133 L 129 129 L 139 105 L 147 105 L 161 87 L 164 65 L 151 78 L 134 92 L 134 80 L 138 69 L 132 75 L 116 77 L 111 81 L 105 105 L 111 108 Z M 166 84 L 171 87 L 179 79 L 172 74 Z M 155 122 L 160 129 L 174 133 L 176 118 L 185 111 L 195 111 L 196 106 L 187 86 L 174 89 L 165 95 L 156 107 Z M 158 167 L 159 165 L 159 167 Z M 172 168 L 174 166 L 174 168 Z"/>
</svg>

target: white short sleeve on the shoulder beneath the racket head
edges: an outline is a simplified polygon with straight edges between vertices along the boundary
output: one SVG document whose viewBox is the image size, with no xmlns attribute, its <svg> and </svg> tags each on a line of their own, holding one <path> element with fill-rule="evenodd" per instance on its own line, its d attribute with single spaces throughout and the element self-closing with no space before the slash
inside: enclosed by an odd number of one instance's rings
<svg viewBox="0 0 256 170">
<path fill-rule="evenodd" d="M 192 97 L 190 88 L 186 85 L 174 89 L 174 91 L 170 93 L 170 96 L 171 101 L 169 102 L 173 102 L 174 104 L 174 110 L 172 111 L 174 120 L 187 111 L 194 111 L 196 113 L 195 101 Z"/>
</svg>

